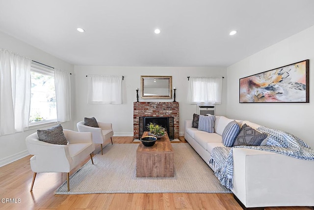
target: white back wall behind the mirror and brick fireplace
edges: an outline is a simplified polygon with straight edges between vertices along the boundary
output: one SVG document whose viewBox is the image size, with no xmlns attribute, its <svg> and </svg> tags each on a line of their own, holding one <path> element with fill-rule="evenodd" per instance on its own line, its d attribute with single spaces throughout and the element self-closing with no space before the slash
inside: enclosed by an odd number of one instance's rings
<svg viewBox="0 0 314 210">
<path fill-rule="evenodd" d="M 133 136 L 133 102 L 136 88 L 141 87 L 141 75 L 172 76 L 172 86 L 177 88 L 179 102 L 180 134 L 183 135 L 184 120 L 191 120 L 197 112 L 196 105 L 187 104 L 187 76 L 226 76 L 223 67 L 108 67 L 75 66 L 76 80 L 76 121 L 84 117 L 95 117 L 98 121 L 112 122 L 115 136 Z M 87 104 L 86 75 L 123 75 L 123 98 L 121 105 Z M 225 115 L 226 80 L 223 80 L 222 104 L 216 106 L 217 115 Z M 173 99 L 141 99 L 140 101 L 173 101 Z"/>
</svg>

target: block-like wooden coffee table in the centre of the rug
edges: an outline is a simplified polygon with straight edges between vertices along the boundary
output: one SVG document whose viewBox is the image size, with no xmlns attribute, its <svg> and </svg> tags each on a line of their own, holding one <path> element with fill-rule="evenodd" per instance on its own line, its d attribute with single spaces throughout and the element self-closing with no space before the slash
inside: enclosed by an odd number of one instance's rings
<svg viewBox="0 0 314 210">
<path fill-rule="evenodd" d="M 148 132 L 143 136 L 148 136 Z M 167 133 L 152 147 L 140 142 L 136 150 L 136 177 L 174 177 L 174 156 Z"/>
</svg>

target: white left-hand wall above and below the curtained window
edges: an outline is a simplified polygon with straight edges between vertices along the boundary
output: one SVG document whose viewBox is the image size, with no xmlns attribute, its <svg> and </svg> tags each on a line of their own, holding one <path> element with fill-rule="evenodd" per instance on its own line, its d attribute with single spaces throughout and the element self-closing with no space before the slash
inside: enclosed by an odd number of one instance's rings
<svg viewBox="0 0 314 210">
<path fill-rule="evenodd" d="M 74 66 L 72 64 L 55 58 L 48 53 L 45 53 L 2 32 L 0 32 L 0 48 L 18 53 L 20 55 L 26 56 L 31 60 L 36 60 L 52 67 L 57 67 L 72 73 L 74 72 Z M 72 79 L 71 82 L 73 82 L 73 92 L 75 83 Z M 73 102 L 74 100 L 75 97 L 73 97 Z M 53 125 L 50 125 L 49 127 L 51 126 Z M 62 126 L 66 129 L 73 129 L 73 122 L 63 123 Z M 40 129 L 42 128 L 46 127 L 41 127 Z M 25 138 L 27 135 L 36 132 L 37 129 L 38 127 L 25 132 L 0 136 L 0 166 L 26 156 L 28 152 L 26 149 Z"/>
</svg>

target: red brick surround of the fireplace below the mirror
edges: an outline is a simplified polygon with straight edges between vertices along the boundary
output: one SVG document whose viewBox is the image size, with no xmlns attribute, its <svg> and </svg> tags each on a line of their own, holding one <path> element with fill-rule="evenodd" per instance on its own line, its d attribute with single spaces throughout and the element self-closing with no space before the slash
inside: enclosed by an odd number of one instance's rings
<svg viewBox="0 0 314 210">
<path fill-rule="evenodd" d="M 133 138 L 139 138 L 139 117 L 173 117 L 174 137 L 179 138 L 179 103 L 178 102 L 134 102 L 133 103 Z"/>
</svg>

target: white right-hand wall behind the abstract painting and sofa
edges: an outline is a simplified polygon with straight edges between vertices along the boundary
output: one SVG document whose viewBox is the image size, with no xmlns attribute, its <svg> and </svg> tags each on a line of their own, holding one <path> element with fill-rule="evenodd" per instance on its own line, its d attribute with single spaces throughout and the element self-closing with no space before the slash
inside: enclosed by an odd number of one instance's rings
<svg viewBox="0 0 314 210">
<path fill-rule="evenodd" d="M 258 40 L 257 40 L 258 41 Z M 310 60 L 310 103 L 239 103 L 239 79 Z M 227 116 L 287 131 L 314 148 L 314 26 L 227 68 Z"/>
</svg>

